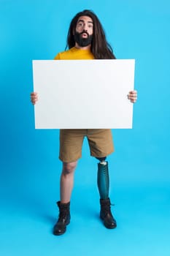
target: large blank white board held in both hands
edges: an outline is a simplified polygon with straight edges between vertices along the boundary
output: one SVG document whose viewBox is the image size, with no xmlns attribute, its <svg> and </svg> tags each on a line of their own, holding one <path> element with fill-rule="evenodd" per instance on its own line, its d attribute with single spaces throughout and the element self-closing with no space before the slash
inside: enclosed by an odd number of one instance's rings
<svg viewBox="0 0 170 256">
<path fill-rule="evenodd" d="M 36 129 L 131 129 L 134 67 L 134 59 L 34 60 Z"/>
</svg>

